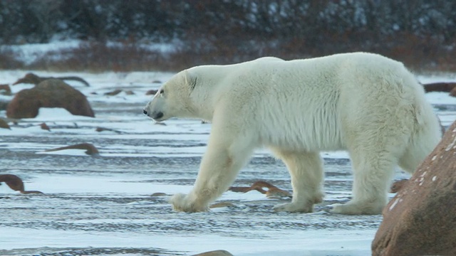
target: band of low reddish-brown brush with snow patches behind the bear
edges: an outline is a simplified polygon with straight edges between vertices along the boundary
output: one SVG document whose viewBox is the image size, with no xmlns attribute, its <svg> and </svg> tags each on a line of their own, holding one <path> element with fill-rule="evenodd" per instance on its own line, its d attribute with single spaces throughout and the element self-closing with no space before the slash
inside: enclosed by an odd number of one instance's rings
<svg viewBox="0 0 456 256">
<path fill-rule="evenodd" d="M 225 42 L 217 42 L 215 48 L 207 47 L 197 50 L 192 47 L 177 48 L 171 53 L 162 53 L 135 43 L 123 43 L 119 46 L 110 46 L 106 43 L 81 43 L 78 48 L 68 48 L 51 51 L 36 59 L 33 63 L 25 64 L 16 60 L 11 50 L 0 51 L 1 69 L 31 69 L 54 71 L 88 71 L 115 72 L 147 71 L 147 70 L 182 70 L 194 65 L 229 64 L 252 60 L 262 56 L 276 56 L 286 60 L 294 58 L 309 58 L 328 55 L 338 52 L 370 51 L 380 53 L 390 58 L 403 61 L 405 65 L 415 71 L 455 71 L 456 50 L 454 48 L 432 48 L 419 41 L 414 36 L 409 40 L 396 44 L 391 48 L 363 48 L 356 45 L 346 46 L 343 50 L 325 50 L 322 48 L 305 48 L 299 42 L 280 43 L 279 47 L 261 46 L 251 49 L 242 49 L 229 46 Z M 209 48 L 209 49 L 208 49 Z"/>
</svg>

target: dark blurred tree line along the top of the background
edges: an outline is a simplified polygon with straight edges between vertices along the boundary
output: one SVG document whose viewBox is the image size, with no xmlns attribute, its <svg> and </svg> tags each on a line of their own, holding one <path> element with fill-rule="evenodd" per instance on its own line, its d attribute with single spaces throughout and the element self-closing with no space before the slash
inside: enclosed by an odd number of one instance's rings
<svg viewBox="0 0 456 256">
<path fill-rule="evenodd" d="M 219 62 L 348 50 L 445 58 L 455 27 L 456 1 L 0 0 L 2 44 L 180 42 Z"/>
</svg>

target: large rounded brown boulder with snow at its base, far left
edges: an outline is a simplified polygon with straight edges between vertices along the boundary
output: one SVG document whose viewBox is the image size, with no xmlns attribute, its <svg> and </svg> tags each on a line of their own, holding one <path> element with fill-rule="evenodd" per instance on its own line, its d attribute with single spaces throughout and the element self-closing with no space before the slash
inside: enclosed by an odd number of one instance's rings
<svg viewBox="0 0 456 256">
<path fill-rule="evenodd" d="M 40 107 L 63 107 L 71 114 L 94 117 L 86 96 L 62 80 L 48 79 L 16 94 L 6 109 L 9 118 L 33 118 Z"/>
</svg>

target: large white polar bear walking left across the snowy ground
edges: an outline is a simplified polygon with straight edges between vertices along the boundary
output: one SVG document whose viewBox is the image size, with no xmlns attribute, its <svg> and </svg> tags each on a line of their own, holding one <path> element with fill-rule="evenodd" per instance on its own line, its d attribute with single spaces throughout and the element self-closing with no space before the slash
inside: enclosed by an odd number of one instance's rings
<svg viewBox="0 0 456 256">
<path fill-rule="evenodd" d="M 380 214 L 395 166 L 412 173 L 440 140 L 423 87 L 402 63 L 373 53 L 197 66 L 165 82 L 143 112 L 212 122 L 195 186 L 170 198 L 185 212 L 208 210 L 266 146 L 293 188 L 291 202 L 274 210 L 311 212 L 323 200 L 319 152 L 346 150 L 353 196 L 331 212 Z"/>
</svg>

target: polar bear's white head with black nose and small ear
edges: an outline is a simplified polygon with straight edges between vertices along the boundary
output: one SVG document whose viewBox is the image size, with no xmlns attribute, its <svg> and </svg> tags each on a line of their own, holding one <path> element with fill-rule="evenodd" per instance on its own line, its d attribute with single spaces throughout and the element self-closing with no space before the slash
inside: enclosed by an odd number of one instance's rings
<svg viewBox="0 0 456 256">
<path fill-rule="evenodd" d="M 171 117 L 191 117 L 190 94 L 195 88 L 196 82 L 196 76 L 190 75 L 187 70 L 177 73 L 165 82 L 160 90 L 157 90 L 152 100 L 145 106 L 144 114 L 157 122 Z"/>
</svg>

